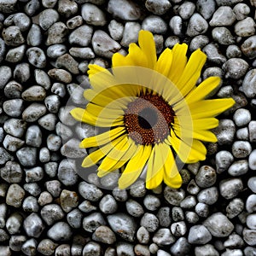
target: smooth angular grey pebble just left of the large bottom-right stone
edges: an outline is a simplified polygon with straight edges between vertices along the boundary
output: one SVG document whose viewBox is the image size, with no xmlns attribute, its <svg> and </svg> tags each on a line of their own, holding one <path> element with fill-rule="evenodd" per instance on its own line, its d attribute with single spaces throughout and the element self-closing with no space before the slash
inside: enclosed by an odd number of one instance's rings
<svg viewBox="0 0 256 256">
<path fill-rule="evenodd" d="M 189 243 L 206 244 L 211 240 L 212 235 L 204 225 L 195 225 L 190 228 L 188 236 Z"/>
</svg>

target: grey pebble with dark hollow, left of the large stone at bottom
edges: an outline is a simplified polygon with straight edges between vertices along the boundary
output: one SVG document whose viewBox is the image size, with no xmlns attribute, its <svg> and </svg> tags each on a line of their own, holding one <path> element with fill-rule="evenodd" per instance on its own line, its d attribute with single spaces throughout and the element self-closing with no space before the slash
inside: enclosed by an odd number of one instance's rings
<svg viewBox="0 0 256 256">
<path fill-rule="evenodd" d="M 108 218 L 110 218 L 110 216 L 112 215 L 108 215 Z M 94 232 L 96 228 L 105 224 L 106 221 L 100 212 L 93 212 L 90 215 L 86 215 L 83 219 L 83 228 L 85 231 L 90 233 Z"/>
</svg>

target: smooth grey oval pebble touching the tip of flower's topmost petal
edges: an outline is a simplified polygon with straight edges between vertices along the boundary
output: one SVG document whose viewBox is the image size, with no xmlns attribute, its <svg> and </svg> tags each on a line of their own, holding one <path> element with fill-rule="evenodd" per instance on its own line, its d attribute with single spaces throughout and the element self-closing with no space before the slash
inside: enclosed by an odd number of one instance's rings
<svg viewBox="0 0 256 256">
<path fill-rule="evenodd" d="M 167 31 L 166 21 L 160 16 L 149 15 L 143 20 L 143 30 L 148 30 L 152 33 L 164 34 Z"/>
</svg>

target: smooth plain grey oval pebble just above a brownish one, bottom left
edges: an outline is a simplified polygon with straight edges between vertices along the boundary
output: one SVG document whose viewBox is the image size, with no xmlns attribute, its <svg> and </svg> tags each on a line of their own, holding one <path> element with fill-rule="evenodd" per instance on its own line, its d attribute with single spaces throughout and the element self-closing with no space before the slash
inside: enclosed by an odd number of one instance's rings
<svg viewBox="0 0 256 256">
<path fill-rule="evenodd" d="M 55 241 L 68 241 L 72 235 L 71 227 L 65 222 L 54 224 L 47 232 L 47 236 Z"/>
</svg>

